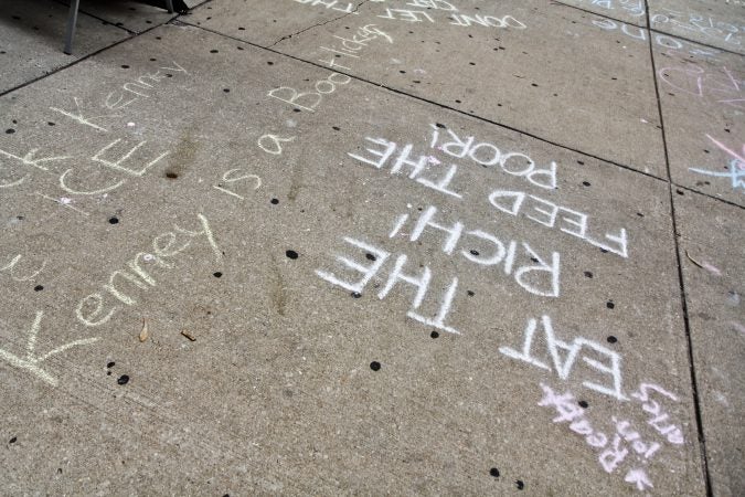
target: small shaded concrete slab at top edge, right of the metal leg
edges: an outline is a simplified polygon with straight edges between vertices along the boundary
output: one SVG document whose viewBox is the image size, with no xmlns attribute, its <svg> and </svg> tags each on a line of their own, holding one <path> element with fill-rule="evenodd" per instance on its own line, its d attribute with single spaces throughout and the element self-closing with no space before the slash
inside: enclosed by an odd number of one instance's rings
<svg viewBox="0 0 745 497">
<path fill-rule="evenodd" d="M 70 1 L 62 1 L 61 3 L 70 6 Z M 86 0 L 81 2 L 81 12 L 85 12 L 135 33 L 141 33 L 157 25 L 164 24 L 178 15 L 178 13 L 171 14 L 168 13 L 168 10 L 159 9 L 136 0 L 116 2 L 106 0 Z"/>
</svg>

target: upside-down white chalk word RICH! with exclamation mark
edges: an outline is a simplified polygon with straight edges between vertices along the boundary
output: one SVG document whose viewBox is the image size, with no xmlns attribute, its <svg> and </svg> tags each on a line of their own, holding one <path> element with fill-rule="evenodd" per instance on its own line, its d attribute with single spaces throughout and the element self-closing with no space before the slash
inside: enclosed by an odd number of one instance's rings
<svg viewBox="0 0 745 497">
<path fill-rule="evenodd" d="M 439 232 L 439 234 L 445 235 L 441 251 L 447 255 L 453 255 L 462 240 L 465 242 L 461 245 L 467 246 L 461 248 L 458 254 L 467 261 L 483 267 L 498 266 L 503 262 L 504 274 L 507 276 L 514 275 L 515 283 L 525 292 L 542 297 L 558 297 L 561 256 L 557 252 L 552 252 L 550 257 L 542 257 L 525 242 L 518 244 L 517 241 L 512 240 L 504 243 L 491 233 L 482 230 L 468 230 L 460 221 L 436 220 L 436 215 L 437 208 L 430 205 L 425 209 L 409 235 L 402 232 L 409 215 L 402 214 L 396 219 L 389 237 L 393 239 L 401 233 L 408 237 L 411 242 L 417 242 L 425 231 L 433 234 Z M 520 254 L 523 254 L 534 264 L 515 264 Z"/>
</svg>

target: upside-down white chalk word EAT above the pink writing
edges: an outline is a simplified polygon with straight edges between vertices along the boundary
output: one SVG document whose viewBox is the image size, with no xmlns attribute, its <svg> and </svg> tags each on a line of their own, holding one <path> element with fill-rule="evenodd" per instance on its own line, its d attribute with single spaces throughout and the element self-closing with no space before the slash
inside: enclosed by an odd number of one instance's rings
<svg viewBox="0 0 745 497">
<path fill-rule="evenodd" d="M 554 328 L 549 316 L 543 316 L 541 318 L 541 325 L 543 327 L 543 334 L 545 337 L 545 347 L 547 352 L 546 357 L 539 359 L 538 357 L 533 356 L 533 339 L 535 337 L 535 332 L 538 331 L 536 319 L 528 320 L 522 350 L 515 350 L 511 347 L 500 347 L 499 351 L 511 359 L 528 362 L 531 366 L 544 369 L 546 371 L 554 371 L 562 380 L 567 380 L 572 374 L 572 370 L 576 366 L 581 351 L 587 350 L 589 352 L 594 352 L 595 355 L 605 357 L 608 363 L 603 363 L 588 356 L 583 356 L 582 360 L 589 368 L 599 371 L 602 374 L 609 376 L 611 383 L 600 384 L 594 381 L 585 380 L 582 383 L 583 387 L 603 393 L 604 395 L 613 396 L 619 401 L 629 400 L 622 391 L 620 355 L 614 352 L 607 347 L 603 347 L 596 341 L 588 340 L 584 337 L 575 338 L 572 343 L 560 340 L 554 334 Z M 560 351 L 566 352 L 564 360 L 562 360 Z M 551 360 L 551 366 L 549 364 L 549 359 Z"/>
</svg>

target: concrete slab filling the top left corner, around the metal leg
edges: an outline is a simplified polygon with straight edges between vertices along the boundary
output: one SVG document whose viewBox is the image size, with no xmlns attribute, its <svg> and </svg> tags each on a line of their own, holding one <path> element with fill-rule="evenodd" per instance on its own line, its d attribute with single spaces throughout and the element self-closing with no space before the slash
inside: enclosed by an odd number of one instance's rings
<svg viewBox="0 0 745 497">
<path fill-rule="evenodd" d="M 41 77 L 128 36 L 88 15 L 78 18 L 75 55 L 62 53 L 67 9 L 44 0 L 0 0 L 0 93 Z"/>
</svg>

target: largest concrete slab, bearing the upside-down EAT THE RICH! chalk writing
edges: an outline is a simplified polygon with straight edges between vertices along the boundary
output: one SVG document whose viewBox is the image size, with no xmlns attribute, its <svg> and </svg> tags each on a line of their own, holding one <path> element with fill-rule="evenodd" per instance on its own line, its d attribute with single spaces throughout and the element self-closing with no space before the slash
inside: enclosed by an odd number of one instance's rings
<svg viewBox="0 0 745 497">
<path fill-rule="evenodd" d="M 704 491 L 663 181 L 185 27 L 0 108 L 19 493 Z"/>
</svg>

